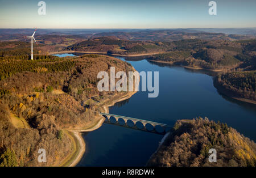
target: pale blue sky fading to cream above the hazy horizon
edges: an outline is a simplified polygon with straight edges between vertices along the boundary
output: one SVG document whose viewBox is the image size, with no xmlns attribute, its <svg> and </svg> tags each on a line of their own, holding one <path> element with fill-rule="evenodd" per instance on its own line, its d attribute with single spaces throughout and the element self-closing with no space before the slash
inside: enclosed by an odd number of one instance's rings
<svg viewBox="0 0 256 178">
<path fill-rule="evenodd" d="M 0 0 L 0 28 L 243 28 L 256 27 L 256 0 Z"/>
</svg>

